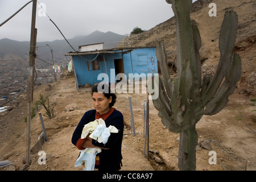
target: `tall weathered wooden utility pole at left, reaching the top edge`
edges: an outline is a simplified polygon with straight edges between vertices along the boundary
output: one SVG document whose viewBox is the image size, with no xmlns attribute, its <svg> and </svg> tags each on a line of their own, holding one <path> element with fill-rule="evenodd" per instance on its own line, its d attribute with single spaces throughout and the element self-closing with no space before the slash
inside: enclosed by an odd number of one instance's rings
<svg viewBox="0 0 256 182">
<path fill-rule="evenodd" d="M 30 75 L 27 79 L 27 160 L 26 164 L 30 165 L 30 142 L 31 142 L 31 111 L 34 92 L 34 77 L 35 77 L 35 57 L 36 57 L 36 0 L 33 0 L 32 5 L 32 20 L 31 20 L 31 35 L 30 35 Z"/>
</svg>

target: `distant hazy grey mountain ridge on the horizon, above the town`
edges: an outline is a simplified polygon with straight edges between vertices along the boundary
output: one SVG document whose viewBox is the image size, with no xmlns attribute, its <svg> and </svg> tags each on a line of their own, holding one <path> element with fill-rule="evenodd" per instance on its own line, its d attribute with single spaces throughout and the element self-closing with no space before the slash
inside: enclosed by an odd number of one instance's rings
<svg viewBox="0 0 256 182">
<path fill-rule="evenodd" d="M 104 42 L 104 49 L 114 48 L 117 44 L 125 38 L 125 35 L 115 34 L 114 32 L 101 32 L 94 31 L 92 34 L 85 36 L 75 36 L 73 39 L 68 39 L 68 42 L 72 47 L 78 51 L 79 46 L 84 46 L 86 44 L 100 43 Z M 53 50 L 53 57 L 56 64 L 67 64 L 70 61 L 70 57 L 65 57 L 64 55 L 70 51 L 73 51 L 71 46 L 63 40 L 54 40 L 52 42 L 38 42 L 36 43 L 36 54 L 42 60 L 52 63 L 51 51 L 48 46 Z M 19 42 L 10 39 L 0 40 L 0 59 L 1 60 L 23 60 L 27 59 L 29 55 L 30 42 Z M 68 62 L 67 62 L 68 61 Z M 44 62 L 40 63 L 38 68 L 47 68 L 48 65 Z"/>
</svg>

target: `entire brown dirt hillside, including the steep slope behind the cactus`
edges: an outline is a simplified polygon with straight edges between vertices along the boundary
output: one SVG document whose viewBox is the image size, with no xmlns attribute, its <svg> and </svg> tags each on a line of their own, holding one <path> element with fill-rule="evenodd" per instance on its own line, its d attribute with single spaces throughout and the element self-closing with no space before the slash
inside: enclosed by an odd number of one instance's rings
<svg viewBox="0 0 256 182">
<path fill-rule="evenodd" d="M 219 59 L 218 33 L 226 10 L 233 9 L 238 14 L 239 27 L 235 50 L 242 57 L 242 78 L 237 84 L 236 92 L 229 97 L 229 104 L 218 114 L 204 116 L 196 125 L 199 142 L 207 141 L 206 146 L 197 147 L 197 170 L 256 170 L 256 109 L 251 98 L 256 98 L 256 64 L 255 64 L 255 6 L 254 1 L 214 1 L 217 4 L 217 17 L 209 17 L 208 4 L 198 6 L 191 18 L 199 26 L 203 46 L 201 48 L 202 71 L 214 73 Z M 199 2 L 198 2 L 199 3 Z M 168 6 L 168 4 L 167 4 Z M 171 8 L 171 7 L 170 7 Z M 175 64 L 175 26 L 167 20 L 143 34 L 130 36 L 121 44 L 131 43 L 137 46 L 153 45 L 156 39 L 164 40 L 170 62 Z M 148 36 L 150 35 L 150 36 Z M 141 41 L 144 40 L 144 43 Z M 172 40 L 172 41 L 170 41 Z M 127 46 L 127 45 L 126 45 Z M 129 45 L 128 45 L 129 46 Z M 56 117 L 49 119 L 43 116 L 48 142 L 43 144 L 46 152 L 46 164 L 38 163 L 37 152 L 31 156 L 31 165 L 27 170 L 81 170 L 75 168 L 79 150 L 71 143 L 72 133 L 86 110 L 93 109 L 90 92 L 77 93 L 76 80 L 67 71 L 57 82 L 41 85 L 34 89 L 34 102 L 40 94 L 50 103 L 54 103 Z M 138 86 L 138 85 L 137 85 Z M 143 86 L 142 86 L 143 88 Z M 136 136 L 130 134 L 130 108 L 128 97 L 131 97 Z M 177 155 L 179 134 L 166 129 L 158 111 L 150 102 L 150 160 L 143 156 L 143 109 L 146 93 L 117 94 L 115 108 L 123 113 L 126 123 L 123 135 L 123 167 L 122 170 L 179 170 Z M 65 110 L 74 105 L 71 111 Z M 42 109 L 42 114 L 45 110 Z M 20 95 L 9 111 L 0 114 L 0 160 L 14 163 L 0 170 L 20 170 L 26 156 L 27 123 L 26 94 Z M 243 119 L 239 119 L 238 115 Z M 245 123 L 246 122 L 246 123 Z M 249 127 L 250 129 L 249 129 Z M 33 146 L 42 127 L 38 113 L 32 119 L 31 146 Z M 209 152 L 215 151 L 217 162 L 209 164 Z"/>
</svg>

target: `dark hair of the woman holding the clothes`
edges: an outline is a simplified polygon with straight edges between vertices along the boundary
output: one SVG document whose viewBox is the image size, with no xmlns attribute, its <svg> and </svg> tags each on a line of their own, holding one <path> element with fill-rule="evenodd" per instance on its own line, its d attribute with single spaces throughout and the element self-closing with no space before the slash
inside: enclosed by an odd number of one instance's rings
<svg viewBox="0 0 256 182">
<path fill-rule="evenodd" d="M 93 92 L 103 93 L 106 98 L 110 98 L 110 96 L 112 96 L 112 102 L 109 103 L 110 108 L 114 106 L 115 101 L 117 100 L 117 96 L 115 96 L 115 93 L 111 92 L 109 84 L 94 85 L 92 87 L 92 95 Z"/>
</svg>

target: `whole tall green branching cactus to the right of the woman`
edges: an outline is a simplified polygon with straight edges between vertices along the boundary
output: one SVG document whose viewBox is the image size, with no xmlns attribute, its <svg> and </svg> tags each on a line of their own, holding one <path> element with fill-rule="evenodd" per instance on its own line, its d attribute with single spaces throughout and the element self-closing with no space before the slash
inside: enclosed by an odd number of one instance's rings
<svg viewBox="0 0 256 182">
<path fill-rule="evenodd" d="M 228 11 L 222 22 L 219 48 L 220 61 L 212 79 L 201 78 L 199 30 L 191 24 L 192 0 L 166 0 L 172 3 L 176 17 L 177 78 L 171 78 L 167 68 L 166 52 L 162 43 L 156 46 L 163 75 L 159 77 L 159 97 L 152 100 L 162 123 L 174 133 L 180 133 L 179 169 L 196 169 L 196 123 L 205 115 L 213 115 L 228 104 L 241 77 L 241 58 L 232 53 L 236 41 L 238 18 Z"/>
</svg>

